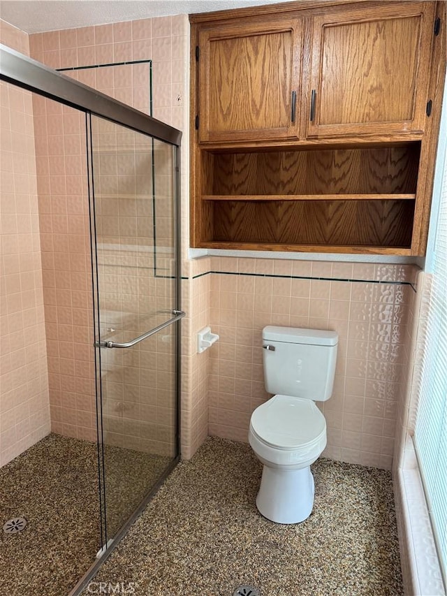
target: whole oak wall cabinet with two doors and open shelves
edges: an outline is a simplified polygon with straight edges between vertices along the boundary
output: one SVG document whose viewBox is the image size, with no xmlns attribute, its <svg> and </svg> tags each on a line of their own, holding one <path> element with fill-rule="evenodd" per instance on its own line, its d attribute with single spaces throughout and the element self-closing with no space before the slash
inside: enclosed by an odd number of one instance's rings
<svg viewBox="0 0 447 596">
<path fill-rule="evenodd" d="M 430 1 L 192 15 L 191 245 L 424 254 L 437 19 Z"/>
</svg>

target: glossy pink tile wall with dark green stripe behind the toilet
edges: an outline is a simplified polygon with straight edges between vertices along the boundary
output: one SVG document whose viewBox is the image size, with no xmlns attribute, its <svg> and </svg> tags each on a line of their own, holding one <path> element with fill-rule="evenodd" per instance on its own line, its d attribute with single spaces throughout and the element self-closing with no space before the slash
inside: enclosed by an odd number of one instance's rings
<svg viewBox="0 0 447 596">
<path fill-rule="evenodd" d="M 266 325 L 339 333 L 323 455 L 390 469 L 413 266 L 212 257 L 209 432 L 247 441 L 263 383 Z"/>
</svg>

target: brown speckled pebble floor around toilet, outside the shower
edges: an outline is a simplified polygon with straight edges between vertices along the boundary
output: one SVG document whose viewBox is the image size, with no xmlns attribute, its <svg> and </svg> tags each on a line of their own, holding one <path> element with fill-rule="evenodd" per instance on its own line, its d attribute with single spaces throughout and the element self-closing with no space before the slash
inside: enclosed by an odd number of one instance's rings
<svg viewBox="0 0 447 596">
<path fill-rule="evenodd" d="M 261 465 L 249 446 L 208 438 L 94 581 L 135 596 L 231 596 L 244 583 L 262 596 L 402 595 L 390 473 L 323 458 L 313 472 L 310 518 L 276 525 L 256 509 Z"/>
</svg>

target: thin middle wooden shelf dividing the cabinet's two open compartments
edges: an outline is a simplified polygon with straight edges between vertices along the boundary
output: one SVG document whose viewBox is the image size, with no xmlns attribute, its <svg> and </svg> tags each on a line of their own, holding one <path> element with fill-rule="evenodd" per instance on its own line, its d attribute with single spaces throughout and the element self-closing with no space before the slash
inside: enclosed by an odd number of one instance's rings
<svg viewBox="0 0 447 596">
<path fill-rule="evenodd" d="M 205 194 L 202 201 L 414 201 L 411 194 Z"/>
</svg>

